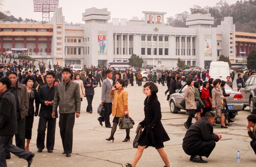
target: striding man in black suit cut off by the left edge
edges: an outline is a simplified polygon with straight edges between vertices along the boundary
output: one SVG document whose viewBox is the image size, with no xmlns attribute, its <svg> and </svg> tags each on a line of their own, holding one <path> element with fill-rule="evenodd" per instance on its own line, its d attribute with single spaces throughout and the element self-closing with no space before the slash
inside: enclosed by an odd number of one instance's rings
<svg viewBox="0 0 256 167">
<path fill-rule="evenodd" d="M 15 97 L 8 90 L 11 84 L 7 77 L 0 79 L 0 92 L 2 92 L 0 102 L 0 167 L 7 167 L 4 151 L 27 160 L 28 167 L 30 167 L 34 153 L 12 145 L 13 135 L 17 134 L 18 127 Z"/>
</svg>

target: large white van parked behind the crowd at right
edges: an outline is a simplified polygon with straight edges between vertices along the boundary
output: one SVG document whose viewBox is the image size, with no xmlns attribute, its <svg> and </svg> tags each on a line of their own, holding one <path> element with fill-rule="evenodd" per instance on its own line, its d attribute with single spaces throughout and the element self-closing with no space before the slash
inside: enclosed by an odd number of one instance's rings
<svg viewBox="0 0 256 167">
<path fill-rule="evenodd" d="M 227 76 L 230 76 L 229 64 L 224 61 L 211 62 L 209 78 L 226 80 Z"/>
</svg>

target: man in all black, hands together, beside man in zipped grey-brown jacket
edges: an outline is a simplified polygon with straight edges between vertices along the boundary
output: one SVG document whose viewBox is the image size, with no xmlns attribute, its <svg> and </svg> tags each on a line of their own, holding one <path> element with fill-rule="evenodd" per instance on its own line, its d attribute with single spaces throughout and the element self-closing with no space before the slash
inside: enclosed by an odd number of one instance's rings
<svg viewBox="0 0 256 167">
<path fill-rule="evenodd" d="M 55 141 L 55 127 L 56 118 L 58 118 L 58 112 L 55 113 L 55 117 L 52 117 L 53 100 L 56 87 L 54 86 L 55 74 L 49 72 L 46 74 L 46 85 L 43 85 L 38 90 L 39 101 L 41 108 L 39 111 L 39 122 L 37 129 L 36 146 L 37 152 L 42 152 L 44 149 L 45 130 L 47 128 L 46 148 L 49 153 L 53 152 Z"/>
</svg>

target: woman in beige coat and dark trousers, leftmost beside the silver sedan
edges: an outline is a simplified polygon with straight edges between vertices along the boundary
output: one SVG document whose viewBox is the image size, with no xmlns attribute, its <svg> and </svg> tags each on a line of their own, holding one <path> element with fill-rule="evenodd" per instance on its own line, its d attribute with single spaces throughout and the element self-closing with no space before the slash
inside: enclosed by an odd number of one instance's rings
<svg viewBox="0 0 256 167">
<path fill-rule="evenodd" d="M 188 87 L 185 89 L 185 93 L 184 93 L 184 99 L 186 101 L 186 111 L 189 112 L 189 117 L 187 122 L 184 123 L 184 126 L 186 129 L 189 129 L 190 126 L 192 125 L 192 119 L 194 117 L 195 114 L 195 110 L 196 110 L 196 105 L 195 105 L 195 101 L 194 101 L 194 89 L 193 89 L 193 81 L 192 79 L 189 79 L 187 81 Z"/>
</svg>

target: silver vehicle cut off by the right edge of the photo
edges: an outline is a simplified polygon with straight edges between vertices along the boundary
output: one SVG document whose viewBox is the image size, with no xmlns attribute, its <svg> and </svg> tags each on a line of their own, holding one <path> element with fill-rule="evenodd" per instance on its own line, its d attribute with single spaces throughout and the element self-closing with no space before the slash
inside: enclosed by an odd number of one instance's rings
<svg viewBox="0 0 256 167">
<path fill-rule="evenodd" d="M 240 86 L 239 92 L 243 95 L 244 108 L 249 106 L 250 112 L 256 114 L 256 75 L 250 76 L 244 85 Z"/>
</svg>

